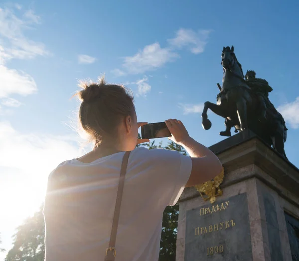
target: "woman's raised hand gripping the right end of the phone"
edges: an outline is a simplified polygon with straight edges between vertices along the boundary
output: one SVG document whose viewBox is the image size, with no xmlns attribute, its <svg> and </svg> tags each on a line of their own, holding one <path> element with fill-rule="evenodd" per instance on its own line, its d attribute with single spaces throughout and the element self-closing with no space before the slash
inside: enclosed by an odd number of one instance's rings
<svg viewBox="0 0 299 261">
<path fill-rule="evenodd" d="M 181 121 L 176 119 L 168 119 L 165 121 L 170 133 L 171 137 L 168 139 L 172 140 L 176 144 L 182 144 L 188 138 L 190 138 L 189 133 Z"/>
</svg>

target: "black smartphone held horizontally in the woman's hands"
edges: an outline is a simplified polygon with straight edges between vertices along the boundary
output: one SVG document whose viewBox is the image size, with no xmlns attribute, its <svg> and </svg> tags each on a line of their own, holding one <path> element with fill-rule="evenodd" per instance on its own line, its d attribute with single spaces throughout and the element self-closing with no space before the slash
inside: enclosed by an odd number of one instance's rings
<svg viewBox="0 0 299 261">
<path fill-rule="evenodd" d="M 171 133 L 165 122 L 148 123 L 141 126 L 141 138 L 166 138 L 171 137 Z"/>
</svg>

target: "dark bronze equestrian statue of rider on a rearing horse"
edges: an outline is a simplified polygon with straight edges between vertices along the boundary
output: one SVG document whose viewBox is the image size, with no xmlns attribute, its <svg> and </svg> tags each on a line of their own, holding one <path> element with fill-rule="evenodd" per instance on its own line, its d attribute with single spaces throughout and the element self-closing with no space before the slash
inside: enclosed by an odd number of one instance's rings
<svg viewBox="0 0 299 261">
<path fill-rule="evenodd" d="M 256 78 L 254 71 L 247 71 L 245 77 L 242 66 L 234 53 L 234 46 L 223 47 L 222 50 L 223 79 L 217 104 L 204 103 L 202 126 L 211 128 L 207 110 L 225 118 L 226 130 L 221 136 L 231 136 L 231 128 L 235 132 L 250 129 L 272 146 L 282 157 L 287 159 L 284 142 L 287 140 L 287 127 L 282 115 L 275 109 L 268 98 L 272 91 L 268 82 Z"/>
</svg>

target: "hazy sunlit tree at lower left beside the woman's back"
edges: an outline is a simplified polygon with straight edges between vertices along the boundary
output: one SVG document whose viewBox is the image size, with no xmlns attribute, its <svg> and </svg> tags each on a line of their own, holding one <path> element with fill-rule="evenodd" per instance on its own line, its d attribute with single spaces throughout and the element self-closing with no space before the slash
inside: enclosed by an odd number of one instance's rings
<svg viewBox="0 0 299 261">
<path fill-rule="evenodd" d="M 32 217 L 17 227 L 13 247 L 6 261 L 43 261 L 45 256 L 45 226 L 41 206 Z"/>
</svg>

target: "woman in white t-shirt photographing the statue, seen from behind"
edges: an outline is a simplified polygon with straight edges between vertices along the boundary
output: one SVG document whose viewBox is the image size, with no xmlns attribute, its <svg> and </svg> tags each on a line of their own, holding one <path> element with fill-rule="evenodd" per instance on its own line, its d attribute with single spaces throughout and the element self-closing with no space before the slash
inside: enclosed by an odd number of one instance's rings
<svg viewBox="0 0 299 261">
<path fill-rule="evenodd" d="M 192 139 L 181 121 L 166 122 L 190 156 L 165 149 L 135 148 L 133 97 L 123 86 L 85 84 L 78 92 L 79 119 L 95 143 L 86 155 L 61 163 L 49 176 L 44 204 L 46 261 L 103 260 L 110 238 L 121 163 L 131 151 L 125 175 L 116 240 L 116 261 L 157 261 L 166 206 L 185 187 L 211 180 L 222 165 Z"/>
</svg>

